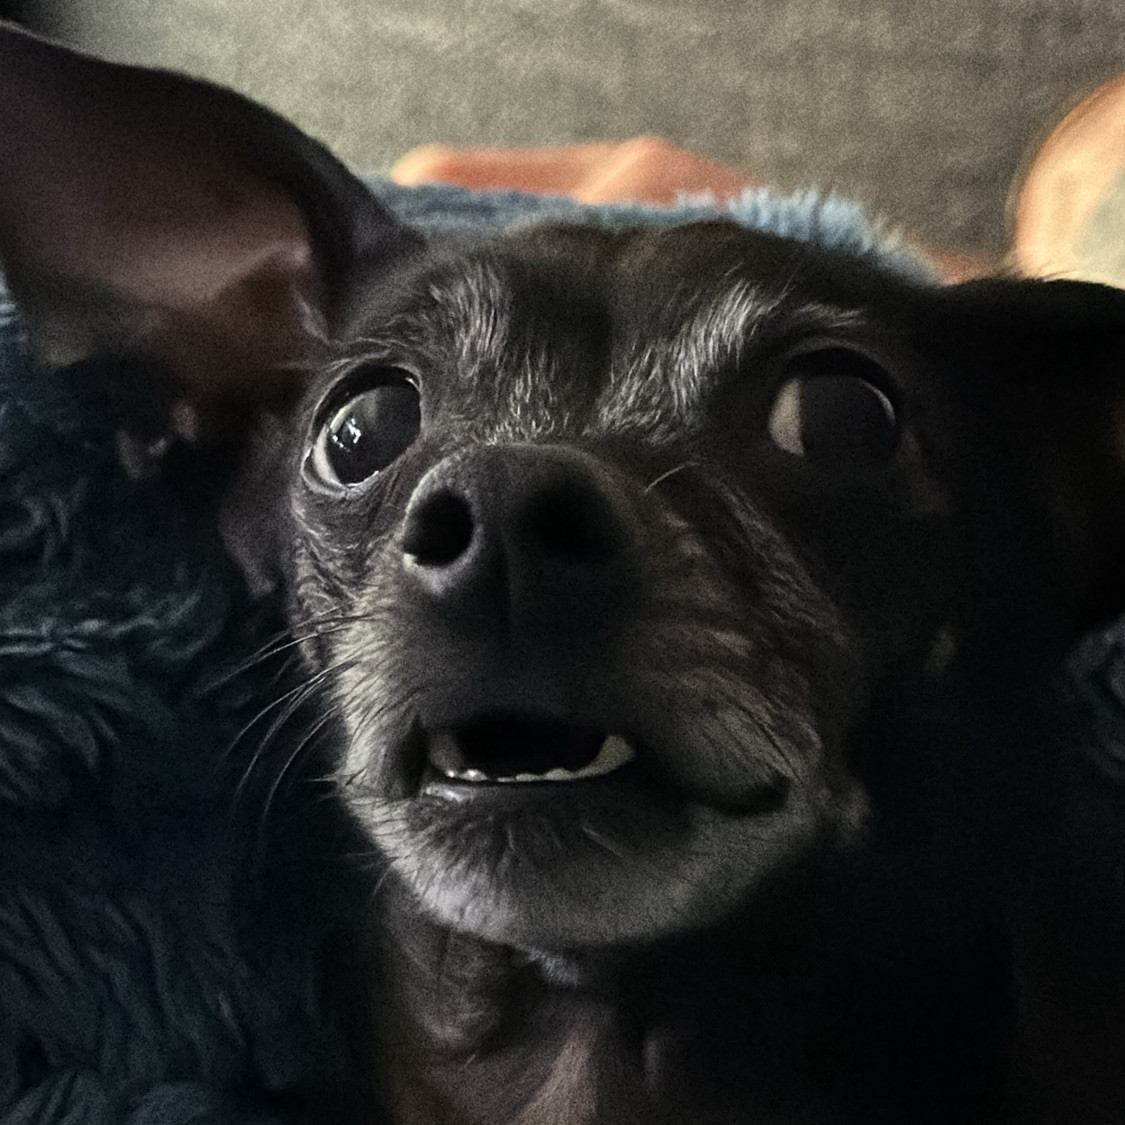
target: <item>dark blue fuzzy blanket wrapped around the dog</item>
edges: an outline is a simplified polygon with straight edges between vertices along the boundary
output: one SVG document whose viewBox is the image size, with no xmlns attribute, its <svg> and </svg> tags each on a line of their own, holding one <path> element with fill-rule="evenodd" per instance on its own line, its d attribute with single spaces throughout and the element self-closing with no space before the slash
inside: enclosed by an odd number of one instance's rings
<svg viewBox="0 0 1125 1125">
<path fill-rule="evenodd" d="M 443 231 L 719 210 L 375 188 Z M 850 204 L 749 192 L 726 212 L 928 277 Z M 292 669 L 251 659 L 280 621 L 222 552 L 206 466 L 120 468 L 129 378 L 35 368 L 0 307 L 0 1120 L 331 1122 L 349 1059 L 324 970 L 349 955 L 353 842 L 315 755 L 284 770 L 300 716 L 268 704 Z M 1061 687 L 1084 716 L 1072 860 L 1106 942 L 1125 916 L 1123 654 L 1118 628 L 1089 638 Z"/>
</svg>

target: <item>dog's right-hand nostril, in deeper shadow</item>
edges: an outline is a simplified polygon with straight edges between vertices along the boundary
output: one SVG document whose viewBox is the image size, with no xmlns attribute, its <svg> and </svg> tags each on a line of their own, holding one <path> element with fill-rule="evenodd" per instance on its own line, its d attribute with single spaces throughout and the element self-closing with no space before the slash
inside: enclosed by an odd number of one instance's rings
<svg viewBox="0 0 1125 1125">
<path fill-rule="evenodd" d="M 569 483 L 530 497 L 520 532 L 525 543 L 565 562 L 604 562 L 623 538 L 609 503 L 594 489 Z"/>
</svg>

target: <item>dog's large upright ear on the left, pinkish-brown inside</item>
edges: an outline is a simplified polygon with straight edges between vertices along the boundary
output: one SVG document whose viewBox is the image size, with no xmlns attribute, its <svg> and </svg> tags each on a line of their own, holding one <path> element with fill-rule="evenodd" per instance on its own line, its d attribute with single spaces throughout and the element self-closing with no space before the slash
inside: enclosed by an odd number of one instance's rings
<svg viewBox="0 0 1125 1125">
<path fill-rule="evenodd" d="M 0 26 L 0 258 L 47 361 L 140 356 L 230 421 L 291 397 L 349 273 L 415 243 L 260 106 Z"/>
</svg>

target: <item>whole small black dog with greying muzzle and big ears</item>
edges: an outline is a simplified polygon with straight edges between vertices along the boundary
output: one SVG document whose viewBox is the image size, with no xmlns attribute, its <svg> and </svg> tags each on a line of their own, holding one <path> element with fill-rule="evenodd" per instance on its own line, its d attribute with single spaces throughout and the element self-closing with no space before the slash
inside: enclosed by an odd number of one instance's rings
<svg viewBox="0 0 1125 1125">
<path fill-rule="evenodd" d="M 227 91 L 11 30 L 0 90 L 40 353 L 146 360 L 130 448 L 232 459 L 285 592 L 380 857 L 371 1120 L 1125 1118 L 1050 702 L 1125 603 L 1125 297 L 426 240 Z"/>
</svg>

